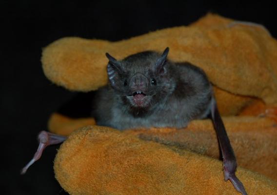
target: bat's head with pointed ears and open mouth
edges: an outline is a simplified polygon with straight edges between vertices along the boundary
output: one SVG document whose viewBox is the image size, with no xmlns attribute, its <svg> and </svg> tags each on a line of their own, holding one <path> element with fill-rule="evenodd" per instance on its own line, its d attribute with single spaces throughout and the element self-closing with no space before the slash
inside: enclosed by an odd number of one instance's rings
<svg viewBox="0 0 277 195">
<path fill-rule="evenodd" d="M 170 75 L 169 48 L 162 54 L 141 52 L 117 60 L 106 53 L 108 78 L 122 102 L 133 113 L 147 113 L 166 101 L 175 82 Z"/>
</svg>

